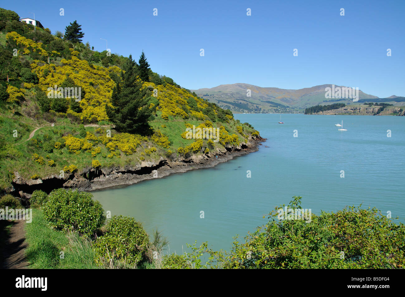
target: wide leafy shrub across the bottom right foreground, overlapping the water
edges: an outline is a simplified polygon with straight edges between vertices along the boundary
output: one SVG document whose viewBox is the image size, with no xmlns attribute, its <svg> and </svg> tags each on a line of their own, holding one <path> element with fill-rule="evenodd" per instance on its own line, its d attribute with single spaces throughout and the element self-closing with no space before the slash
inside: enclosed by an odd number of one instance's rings
<svg viewBox="0 0 405 297">
<path fill-rule="evenodd" d="M 288 209 L 302 209 L 294 196 Z M 271 220 L 248 233 L 244 243 L 235 238 L 230 253 L 189 246 L 192 252 L 168 255 L 163 268 L 311 268 L 387 269 L 405 267 L 405 225 L 395 224 L 377 209 L 347 207 L 337 213 L 311 214 L 303 219 Z M 290 210 L 288 211 L 290 216 Z M 294 216 L 294 215 L 293 215 Z M 201 256 L 207 255 L 202 265 Z"/>
</svg>

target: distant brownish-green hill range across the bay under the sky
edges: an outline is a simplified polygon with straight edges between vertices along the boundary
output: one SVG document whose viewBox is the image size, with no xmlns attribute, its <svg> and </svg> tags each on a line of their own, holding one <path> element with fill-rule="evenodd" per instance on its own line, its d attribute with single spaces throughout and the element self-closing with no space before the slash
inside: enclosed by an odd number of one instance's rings
<svg viewBox="0 0 405 297">
<path fill-rule="evenodd" d="M 339 85 L 335 85 L 335 87 L 338 86 Z M 302 112 L 303 109 L 314 105 L 353 103 L 352 99 L 325 98 L 325 88 L 327 87 L 331 88 L 332 85 L 325 84 L 299 90 L 286 90 L 279 88 L 262 88 L 247 83 L 234 83 L 229 85 L 218 85 L 214 88 L 192 90 L 192 92 L 194 91 L 198 96 L 234 112 Z M 251 90 L 250 97 L 247 96 L 248 89 Z M 390 102 L 395 103 L 396 101 L 392 100 L 399 98 L 401 102 L 401 98 L 403 97 L 393 95 L 389 98 L 391 99 Z M 380 98 L 359 90 L 359 101 L 360 99 L 371 101 Z M 388 100 L 381 100 L 381 102 L 388 102 Z"/>
</svg>

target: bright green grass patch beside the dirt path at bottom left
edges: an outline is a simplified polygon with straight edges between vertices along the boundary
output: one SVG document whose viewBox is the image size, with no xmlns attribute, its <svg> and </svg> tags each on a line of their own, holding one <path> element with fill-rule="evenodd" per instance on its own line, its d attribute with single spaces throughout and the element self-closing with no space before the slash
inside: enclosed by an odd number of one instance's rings
<svg viewBox="0 0 405 297">
<path fill-rule="evenodd" d="M 33 220 L 26 224 L 26 250 L 29 268 L 95 269 L 91 242 L 76 233 L 63 233 L 49 227 L 40 209 L 32 210 Z M 64 252 L 64 259 L 60 259 Z"/>
</svg>

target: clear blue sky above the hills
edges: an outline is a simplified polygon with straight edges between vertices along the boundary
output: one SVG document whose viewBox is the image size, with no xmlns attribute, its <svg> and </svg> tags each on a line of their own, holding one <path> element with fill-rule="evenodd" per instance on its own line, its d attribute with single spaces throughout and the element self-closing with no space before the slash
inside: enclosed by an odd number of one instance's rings
<svg viewBox="0 0 405 297">
<path fill-rule="evenodd" d="M 34 12 L 52 33 L 77 20 L 84 43 L 103 51 L 104 38 L 113 53 L 132 53 L 136 60 L 144 50 L 154 72 L 188 89 L 228 83 L 299 89 L 330 83 L 379 97 L 405 96 L 403 0 L 13 0 L 1 7 L 20 17 Z"/>
</svg>

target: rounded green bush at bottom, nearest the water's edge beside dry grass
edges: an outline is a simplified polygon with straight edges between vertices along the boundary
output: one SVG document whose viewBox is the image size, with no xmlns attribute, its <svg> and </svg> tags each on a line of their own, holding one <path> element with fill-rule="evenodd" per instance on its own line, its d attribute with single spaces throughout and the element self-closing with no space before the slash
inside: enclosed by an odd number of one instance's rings
<svg viewBox="0 0 405 297">
<path fill-rule="evenodd" d="M 145 259 L 149 236 L 134 218 L 113 216 L 108 221 L 106 233 L 94 243 L 96 263 L 124 262 L 135 266 Z"/>
</svg>

